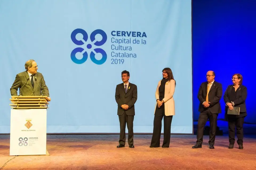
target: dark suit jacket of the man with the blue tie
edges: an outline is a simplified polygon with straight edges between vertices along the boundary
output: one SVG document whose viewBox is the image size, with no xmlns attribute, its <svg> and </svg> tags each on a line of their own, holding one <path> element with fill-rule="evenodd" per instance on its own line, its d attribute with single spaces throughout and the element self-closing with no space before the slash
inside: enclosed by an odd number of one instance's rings
<svg viewBox="0 0 256 170">
<path fill-rule="evenodd" d="M 125 88 L 123 83 L 118 84 L 115 88 L 115 101 L 118 104 L 117 114 L 122 115 L 126 113 L 129 116 L 135 115 L 134 104 L 137 101 L 137 86 L 129 82 L 129 87 L 125 93 Z M 121 105 L 127 104 L 129 108 L 124 110 Z"/>
</svg>

